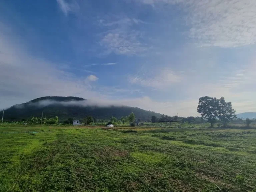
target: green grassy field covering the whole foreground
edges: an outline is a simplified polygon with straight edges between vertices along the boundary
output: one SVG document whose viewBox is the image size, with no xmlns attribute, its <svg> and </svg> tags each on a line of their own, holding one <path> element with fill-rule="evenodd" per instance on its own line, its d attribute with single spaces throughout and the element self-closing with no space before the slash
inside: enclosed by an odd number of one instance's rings
<svg viewBox="0 0 256 192">
<path fill-rule="evenodd" d="M 253 129 L 6 126 L 0 146 L 0 191 L 256 188 Z"/>
</svg>

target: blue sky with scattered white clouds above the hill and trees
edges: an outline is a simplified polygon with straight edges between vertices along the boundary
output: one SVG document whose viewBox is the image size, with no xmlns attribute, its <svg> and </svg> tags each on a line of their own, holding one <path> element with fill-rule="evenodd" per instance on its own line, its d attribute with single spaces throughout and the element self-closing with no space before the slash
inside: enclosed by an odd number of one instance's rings
<svg viewBox="0 0 256 192">
<path fill-rule="evenodd" d="M 256 1 L 0 2 L 0 109 L 77 96 L 199 116 L 202 96 L 256 112 Z"/>
</svg>

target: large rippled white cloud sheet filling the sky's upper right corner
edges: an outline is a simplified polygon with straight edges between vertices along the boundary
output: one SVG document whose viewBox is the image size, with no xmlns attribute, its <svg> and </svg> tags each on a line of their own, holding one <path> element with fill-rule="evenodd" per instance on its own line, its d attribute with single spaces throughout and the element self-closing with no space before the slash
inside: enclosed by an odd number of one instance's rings
<svg viewBox="0 0 256 192">
<path fill-rule="evenodd" d="M 140 0 L 152 6 L 179 3 L 189 36 L 201 46 L 238 47 L 256 42 L 256 1 Z"/>
</svg>

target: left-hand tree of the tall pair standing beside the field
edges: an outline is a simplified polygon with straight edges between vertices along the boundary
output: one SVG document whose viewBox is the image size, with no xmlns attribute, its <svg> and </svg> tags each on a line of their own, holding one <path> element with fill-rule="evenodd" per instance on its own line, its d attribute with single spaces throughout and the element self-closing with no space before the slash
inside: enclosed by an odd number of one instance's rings
<svg viewBox="0 0 256 192">
<path fill-rule="evenodd" d="M 213 127 L 218 117 L 218 103 L 219 100 L 213 97 L 205 96 L 199 98 L 197 112 L 201 114 L 202 118 L 211 123 L 211 127 Z"/>
</svg>

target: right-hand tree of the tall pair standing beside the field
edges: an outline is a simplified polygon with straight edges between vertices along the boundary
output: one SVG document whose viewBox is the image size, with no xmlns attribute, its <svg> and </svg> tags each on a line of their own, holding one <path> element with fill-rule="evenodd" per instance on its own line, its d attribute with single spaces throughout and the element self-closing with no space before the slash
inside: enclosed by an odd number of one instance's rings
<svg viewBox="0 0 256 192">
<path fill-rule="evenodd" d="M 218 118 L 226 127 L 229 121 L 236 119 L 236 111 L 232 108 L 231 102 L 226 102 L 224 97 L 221 97 L 218 101 Z"/>
</svg>

